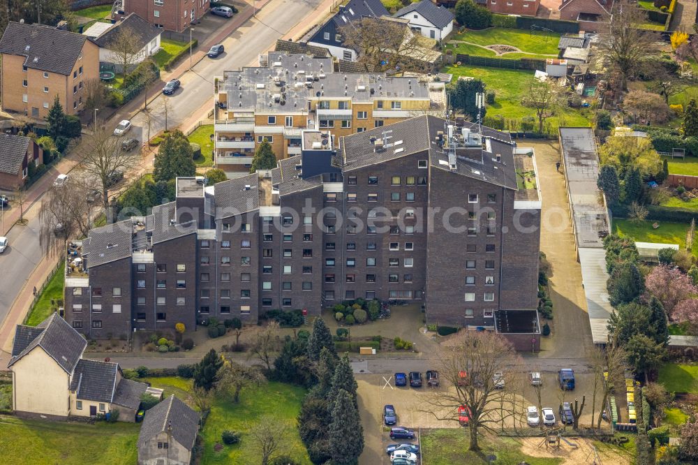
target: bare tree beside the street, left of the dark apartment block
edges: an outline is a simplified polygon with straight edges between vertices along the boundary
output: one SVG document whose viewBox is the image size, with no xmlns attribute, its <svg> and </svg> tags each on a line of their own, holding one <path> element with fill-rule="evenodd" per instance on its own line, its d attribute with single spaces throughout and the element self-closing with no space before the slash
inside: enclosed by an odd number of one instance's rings
<svg viewBox="0 0 698 465">
<path fill-rule="evenodd" d="M 121 150 L 121 140 L 112 137 L 104 127 L 95 128 L 91 135 L 82 138 L 78 168 L 96 180 L 105 212 L 109 212 L 109 190 L 114 184 L 114 175 L 126 172 L 139 161 L 138 151 Z"/>
</svg>

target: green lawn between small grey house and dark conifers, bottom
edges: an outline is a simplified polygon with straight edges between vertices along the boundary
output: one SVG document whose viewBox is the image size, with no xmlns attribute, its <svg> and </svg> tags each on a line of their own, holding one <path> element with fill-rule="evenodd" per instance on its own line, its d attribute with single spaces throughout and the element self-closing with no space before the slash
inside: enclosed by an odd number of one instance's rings
<svg viewBox="0 0 698 465">
<path fill-rule="evenodd" d="M 174 393 L 186 399 L 191 381 L 182 378 L 146 378 L 156 388 L 165 389 L 165 394 Z M 255 390 L 244 390 L 240 394 L 239 404 L 217 398 L 211 406 L 204 428 L 203 456 L 201 464 L 253 464 L 258 457 L 247 441 L 246 431 L 261 415 L 274 415 L 279 422 L 288 426 L 289 448 L 284 450 L 294 457 L 299 464 L 310 464 L 308 452 L 298 434 L 296 418 L 300 411 L 305 390 L 283 383 L 267 383 Z M 221 434 L 225 429 L 239 431 L 242 439 L 238 445 L 225 445 L 221 452 L 214 450 L 216 443 L 221 443 Z"/>
</svg>

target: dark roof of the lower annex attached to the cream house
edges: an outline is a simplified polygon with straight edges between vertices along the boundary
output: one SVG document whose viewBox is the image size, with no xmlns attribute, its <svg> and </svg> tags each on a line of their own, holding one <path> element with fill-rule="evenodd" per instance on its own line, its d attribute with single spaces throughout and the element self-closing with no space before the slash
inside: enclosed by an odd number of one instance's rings
<svg viewBox="0 0 698 465">
<path fill-rule="evenodd" d="M 77 399 L 111 402 L 117 383 L 119 365 L 110 362 L 82 359 L 77 362 L 70 378 L 70 390 Z"/>
</svg>

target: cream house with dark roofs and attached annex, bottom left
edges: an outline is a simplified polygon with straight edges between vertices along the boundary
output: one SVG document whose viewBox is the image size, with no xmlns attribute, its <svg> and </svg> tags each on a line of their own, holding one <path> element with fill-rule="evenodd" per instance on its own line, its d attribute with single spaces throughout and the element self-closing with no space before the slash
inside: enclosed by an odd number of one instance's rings
<svg viewBox="0 0 698 465">
<path fill-rule="evenodd" d="M 124 378 L 116 363 L 83 359 L 86 347 L 59 313 L 36 327 L 17 325 L 8 364 L 15 413 L 65 419 L 117 410 L 119 420 L 135 421 L 147 385 Z"/>
</svg>

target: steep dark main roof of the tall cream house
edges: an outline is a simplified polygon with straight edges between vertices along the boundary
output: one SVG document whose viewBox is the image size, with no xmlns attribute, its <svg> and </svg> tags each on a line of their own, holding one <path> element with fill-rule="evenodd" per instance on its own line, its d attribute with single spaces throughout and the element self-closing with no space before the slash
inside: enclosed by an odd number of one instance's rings
<svg viewBox="0 0 698 465">
<path fill-rule="evenodd" d="M 15 340 L 12 350 L 13 354 L 18 353 L 10 359 L 8 367 L 11 367 L 17 360 L 31 352 L 36 346 L 39 346 L 56 360 L 62 369 L 68 373 L 73 373 L 75 365 L 82 357 L 85 347 L 87 347 L 87 341 L 85 341 L 84 337 L 75 331 L 72 326 L 68 325 L 66 320 L 61 318 L 58 313 L 53 313 L 36 327 L 38 330 L 43 331 L 39 332 L 36 338 L 24 346 L 22 350 L 18 350 L 20 346 L 27 343 L 26 330 L 21 330 L 22 337 L 20 337 L 20 340 Z"/>
</svg>

